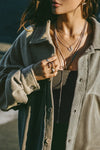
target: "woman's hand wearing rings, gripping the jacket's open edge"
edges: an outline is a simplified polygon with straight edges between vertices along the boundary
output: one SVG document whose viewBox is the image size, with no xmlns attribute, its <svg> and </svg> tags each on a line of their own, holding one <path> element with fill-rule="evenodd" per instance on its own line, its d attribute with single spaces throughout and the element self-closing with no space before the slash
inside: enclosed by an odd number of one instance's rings
<svg viewBox="0 0 100 150">
<path fill-rule="evenodd" d="M 37 80 L 52 78 L 57 75 L 59 61 L 56 55 L 38 62 L 33 67 Z"/>
</svg>

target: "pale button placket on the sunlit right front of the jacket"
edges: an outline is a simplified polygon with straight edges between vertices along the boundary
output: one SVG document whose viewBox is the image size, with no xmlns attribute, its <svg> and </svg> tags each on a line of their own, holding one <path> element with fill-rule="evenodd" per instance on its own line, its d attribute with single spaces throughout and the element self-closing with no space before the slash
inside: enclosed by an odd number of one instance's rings
<svg viewBox="0 0 100 150">
<path fill-rule="evenodd" d="M 87 79 L 87 68 L 88 68 L 88 57 L 85 55 L 81 57 L 78 64 L 78 78 L 76 82 L 76 89 L 75 89 L 75 96 L 73 100 L 73 105 L 71 109 L 71 116 L 69 122 L 69 129 L 67 134 L 67 141 L 66 141 L 66 149 L 73 150 L 75 137 L 77 134 L 77 127 L 80 117 L 80 112 L 82 108 L 82 101 L 85 96 L 85 89 L 86 89 L 86 79 Z M 74 124 L 74 125 L 73 125 Z"/>
</svg>

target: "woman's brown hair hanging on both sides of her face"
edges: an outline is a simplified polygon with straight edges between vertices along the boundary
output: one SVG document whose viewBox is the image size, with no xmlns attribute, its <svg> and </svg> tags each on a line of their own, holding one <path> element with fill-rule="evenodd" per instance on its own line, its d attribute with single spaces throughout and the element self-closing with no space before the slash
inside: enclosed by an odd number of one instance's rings
<svg viewBox="0 0 100 150">
<path fill-rule="evenodd" d="M 96 16 L 98 8 L 98 0 L 85 0 L 82 3 L 83 17 Z M 28 8 L 21 17 L 20 28 L 25 28 L 25 24 L 43 25 L 47 20 L 54 22 L 57 16 L 51 12 L 50 0 L 32 0 Z"/>
</svg>

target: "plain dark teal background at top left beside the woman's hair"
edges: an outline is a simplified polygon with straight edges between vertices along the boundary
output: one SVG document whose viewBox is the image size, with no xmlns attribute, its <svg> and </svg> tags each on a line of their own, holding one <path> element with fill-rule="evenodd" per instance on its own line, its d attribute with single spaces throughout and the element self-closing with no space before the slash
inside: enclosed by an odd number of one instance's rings
<svg viewBox="0 0 100 150">
<path fill-rule="evenodd" d="M 12 43 L 30 0 L 0 0 L 0 42 Z"/>
</svg>

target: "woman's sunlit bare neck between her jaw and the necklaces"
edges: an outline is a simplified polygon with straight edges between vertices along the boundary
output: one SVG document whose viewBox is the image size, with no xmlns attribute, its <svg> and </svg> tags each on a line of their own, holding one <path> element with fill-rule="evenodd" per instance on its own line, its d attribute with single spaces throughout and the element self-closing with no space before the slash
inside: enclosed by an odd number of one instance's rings
<svg viewBox="0 0 100 150">
<path fill-rule="evenodd" d="M 81 11 L 59 15 L 57 18 L 57 30 L 62 31 L 68 37 L 80 35 L 85 19 L 82 17 Z"/>
</svg>

